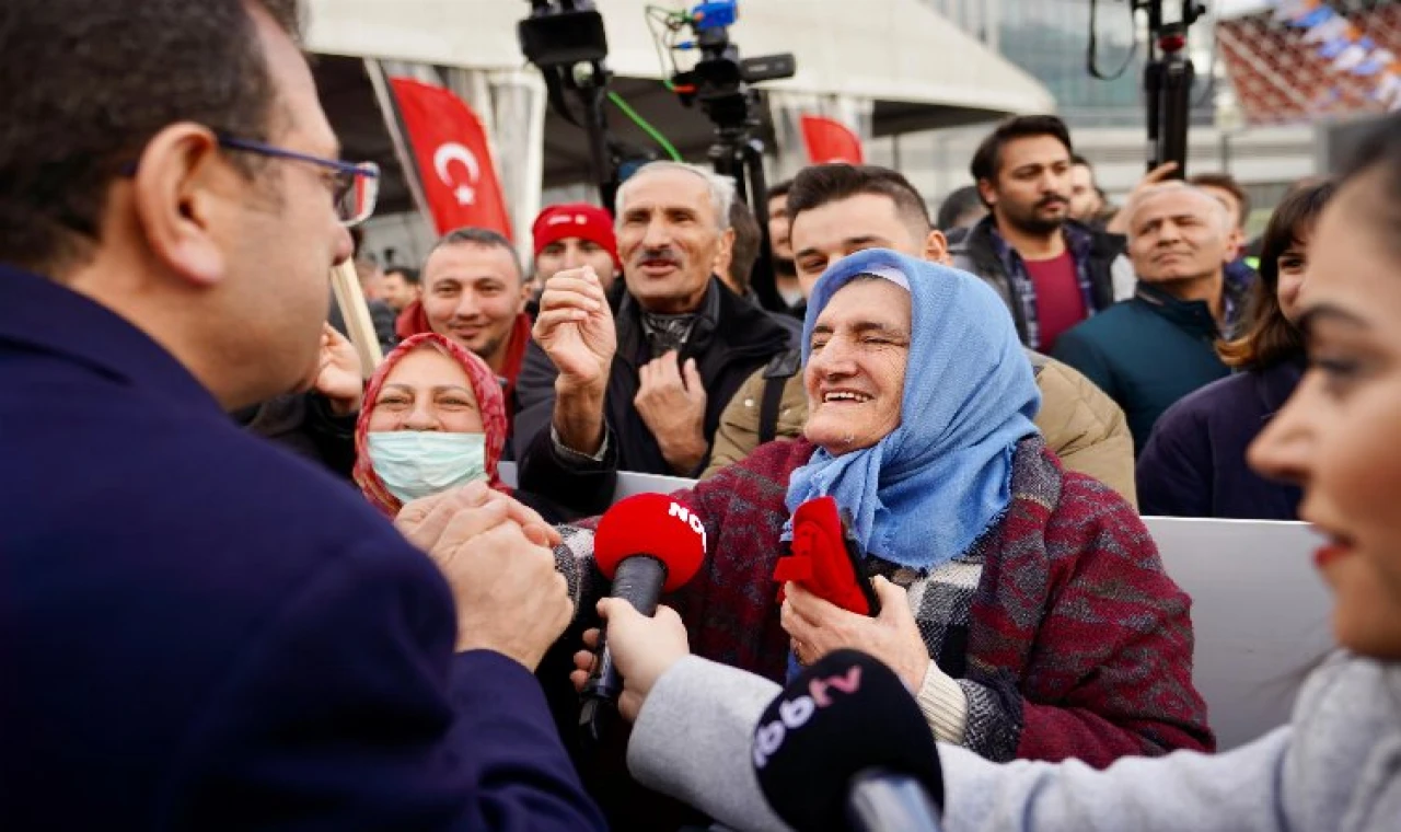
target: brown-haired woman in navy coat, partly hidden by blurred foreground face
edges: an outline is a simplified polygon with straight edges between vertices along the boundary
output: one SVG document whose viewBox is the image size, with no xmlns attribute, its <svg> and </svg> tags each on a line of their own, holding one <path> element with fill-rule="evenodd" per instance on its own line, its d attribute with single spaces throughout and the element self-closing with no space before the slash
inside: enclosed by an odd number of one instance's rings
<svg viewBox="0 0 1401 832">
<path fill-rule="evenodd" d="M 1245 465 L 1245 448 L 1295 391 L 1304 367 L 1299 293 L 1309 279 L 1314 224 L 1332 182 L 1295 188 L 1265 228 L 1259 280 L 1244 336 L 1222 343 L 1238 373 L 1173 405 L 1135 469 L 1139 510 L 1170 517 L 1296 520 L 1299 487 Z"/>
</svg>

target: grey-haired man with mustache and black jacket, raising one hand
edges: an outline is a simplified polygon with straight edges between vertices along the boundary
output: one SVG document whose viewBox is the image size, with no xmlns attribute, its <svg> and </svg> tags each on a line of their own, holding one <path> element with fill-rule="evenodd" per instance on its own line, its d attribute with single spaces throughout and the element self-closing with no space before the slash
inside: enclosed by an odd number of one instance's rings
<svg viewBox="0 0 1401 832">
<path fill-rule="evenodd" d="M 734 244 L 733 199 L 729 178 L 651 162 L 618 190 L 616 319 L 588 266 L 545 284 L 518 387 L 521 487 L 601 510 L 611 494 L 591 483 L 607 471 L 705 468 L 726 403 L 796 340 L 713 275 Z"/>
</svg>

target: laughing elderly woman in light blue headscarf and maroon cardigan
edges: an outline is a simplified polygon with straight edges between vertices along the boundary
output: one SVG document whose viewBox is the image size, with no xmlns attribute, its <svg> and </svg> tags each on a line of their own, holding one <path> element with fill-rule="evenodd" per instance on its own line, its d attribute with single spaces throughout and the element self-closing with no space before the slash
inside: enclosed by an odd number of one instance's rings
<svg viewBox="0 0 1401 832">
<path fill-rule="evenodd" d="M 790 656 L 866 650 L 918 692 L 940 740 L 993 761 L 1212 748 L 1189 601 L 1124 499 L 1045 450 L 1031 368 L 982 282 L 852 255 L 818 283 L 803 352 L 806 438 L 677 494 L 710 541 L 667 599 L 695 653 L 778 681 Z M 878 618 L 793 585 L 780 611 L 782 539 L 821 494 L 853 517 Z M 565 546 L 572 585 L 601 591 L 580 566 L 590 532 L 566 528 Z"/>
</svg>

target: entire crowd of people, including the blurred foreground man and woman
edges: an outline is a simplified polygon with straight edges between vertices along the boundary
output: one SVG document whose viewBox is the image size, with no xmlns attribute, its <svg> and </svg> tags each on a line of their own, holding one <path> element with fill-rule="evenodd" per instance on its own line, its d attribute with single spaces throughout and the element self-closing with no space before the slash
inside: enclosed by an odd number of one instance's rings
<svg viewBox="0 0 1401 832">
<path fill-rule="evenodd" d="M 825 164 L 759 228 L 665 161 L 528 263 L 458 228 L 381 269 L 300 20 L 0 11 L 0 828 L 787 829 L 752 734 L 842 650 L 918 705 L 950 831 L 1401 819 L 1401 120 L 1258 259 L 1229 176 L 1114 207 L 1035 115 L 933 217 Z M 623 472 L 692 480 L 705 541 L 650 618 L 595 564 Z M 820 497 L 874 615 L 775 578 Z M 1140 513 L 1327 538 L 1292 726 L 1215 754 Z M 586 742 L 604 622 L 630 724 Z"/>
</svg>

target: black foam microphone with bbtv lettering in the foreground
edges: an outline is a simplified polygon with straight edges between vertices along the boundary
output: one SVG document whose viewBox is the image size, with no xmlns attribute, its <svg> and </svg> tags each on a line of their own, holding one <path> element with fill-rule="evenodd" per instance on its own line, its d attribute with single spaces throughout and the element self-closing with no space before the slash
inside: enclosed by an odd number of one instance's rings
<svg viewBox="0 0 1401 832">
<path fill-rule="evenodd" d="M 939 832 L 944 777 L 919 705 L 888 667 L 836 650 L 754 731 L 754 773 L 797 832 Z"/>
</svg>

